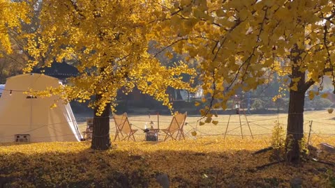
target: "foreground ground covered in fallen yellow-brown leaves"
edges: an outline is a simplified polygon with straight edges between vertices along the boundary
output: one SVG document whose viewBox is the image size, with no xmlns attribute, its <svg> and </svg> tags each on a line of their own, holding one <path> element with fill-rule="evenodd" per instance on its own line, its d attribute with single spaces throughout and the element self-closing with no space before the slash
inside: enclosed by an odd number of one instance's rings
<svg viewBox="0 0 335 188">
<path fill-rule="evenodd" d="M 322 139 L 335 144 L 335 138 Z M 320 140 L 312 139 L 314 146 Z M 334 187 L 334 166 L 306 161 L 299 166 L 269 164 L 269 138 L 207 137 L 186 141 L 117 141 L 97 152 L 81 143 L 0 145 L 0 187 L 160 187 L 166 173 L 170 187 Z M 335 162 L 335 155 L 318 152 L 318 159 Z"/>
</svg>

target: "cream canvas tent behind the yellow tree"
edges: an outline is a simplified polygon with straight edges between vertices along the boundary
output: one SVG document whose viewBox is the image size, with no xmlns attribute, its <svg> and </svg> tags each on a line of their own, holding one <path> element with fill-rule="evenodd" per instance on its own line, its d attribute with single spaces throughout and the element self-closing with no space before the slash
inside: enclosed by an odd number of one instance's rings
<svg viewBox="0 0 335 188">
<path fill-rule="evenodd" d="M 59 80 L 40 74 L 10 77 L 0 97 L 0 142 L 80 141 L 70 104 L 52 97 L 31 96 L 24 91 L 43 91 L 58 87 Z"/>
</svg>

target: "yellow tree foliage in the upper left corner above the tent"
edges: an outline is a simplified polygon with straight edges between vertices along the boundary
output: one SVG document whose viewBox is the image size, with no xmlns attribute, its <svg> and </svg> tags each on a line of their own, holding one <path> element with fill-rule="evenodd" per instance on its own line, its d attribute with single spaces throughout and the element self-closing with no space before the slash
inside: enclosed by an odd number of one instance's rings
<svg viewBox="0 0 335 188">
<path fill-rule="evenodd" d="M 24 50 L 27 40 L 23 35 L 32 33 L 38 28 L 38 2 L 39 0 L 14 0 L 6 1 L 7 5 L 3 6 L 1 18 L 4 26 L 4 33 L 1 33 L 5 44 L 0 49 L 0 81 L 4 83 L 7 77 L 22 74 L 22 69 L 27 64 L 29 54 Z M 3 4 L 4 5 L 4 4 Z M 10 24 L 8 20 L 10 19 Z"/>
</svg>

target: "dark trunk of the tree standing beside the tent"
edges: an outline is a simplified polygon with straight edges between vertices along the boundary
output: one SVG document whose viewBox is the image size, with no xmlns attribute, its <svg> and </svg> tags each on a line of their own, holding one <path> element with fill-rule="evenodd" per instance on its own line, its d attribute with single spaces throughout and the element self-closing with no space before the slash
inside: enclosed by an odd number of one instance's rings
<svg viewBox="0 0 335 188">
<path fill-rule="evenodd" d="M 96 94 L 96 100 L 101 99 L 101 95 Z M 94 109 L 94 130 L 91 148 L 94 150 L 107 150 L 110 148 L 110 103 L 106 104 L 101 116 L 96 116 L 98 107 Z"/>
</svg>

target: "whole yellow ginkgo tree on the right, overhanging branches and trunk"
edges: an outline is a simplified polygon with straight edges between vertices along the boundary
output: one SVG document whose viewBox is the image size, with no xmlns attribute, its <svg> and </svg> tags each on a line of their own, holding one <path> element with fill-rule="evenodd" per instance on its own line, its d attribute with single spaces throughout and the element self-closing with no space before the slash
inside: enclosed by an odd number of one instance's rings
<svg viewBox="0 0 335 188">
<path fill-rule="evenodd" d="M 327 0 L 174 1 L 152 21 L 161 31 L 154 38 L 200 62 L 202 88 L 212 96 L 201 111 L 207 123 L 211 109 L 226 109 L 238 89 L 253 90 L 273 72 L 288 77 L 286 158 L 297 163 L 306 91 L 314 84 L 321 91 L 323 77 L 335 84 L 334 6 Z M 308 94 L 312 99 L 318 92 Z"/>
</svg>

